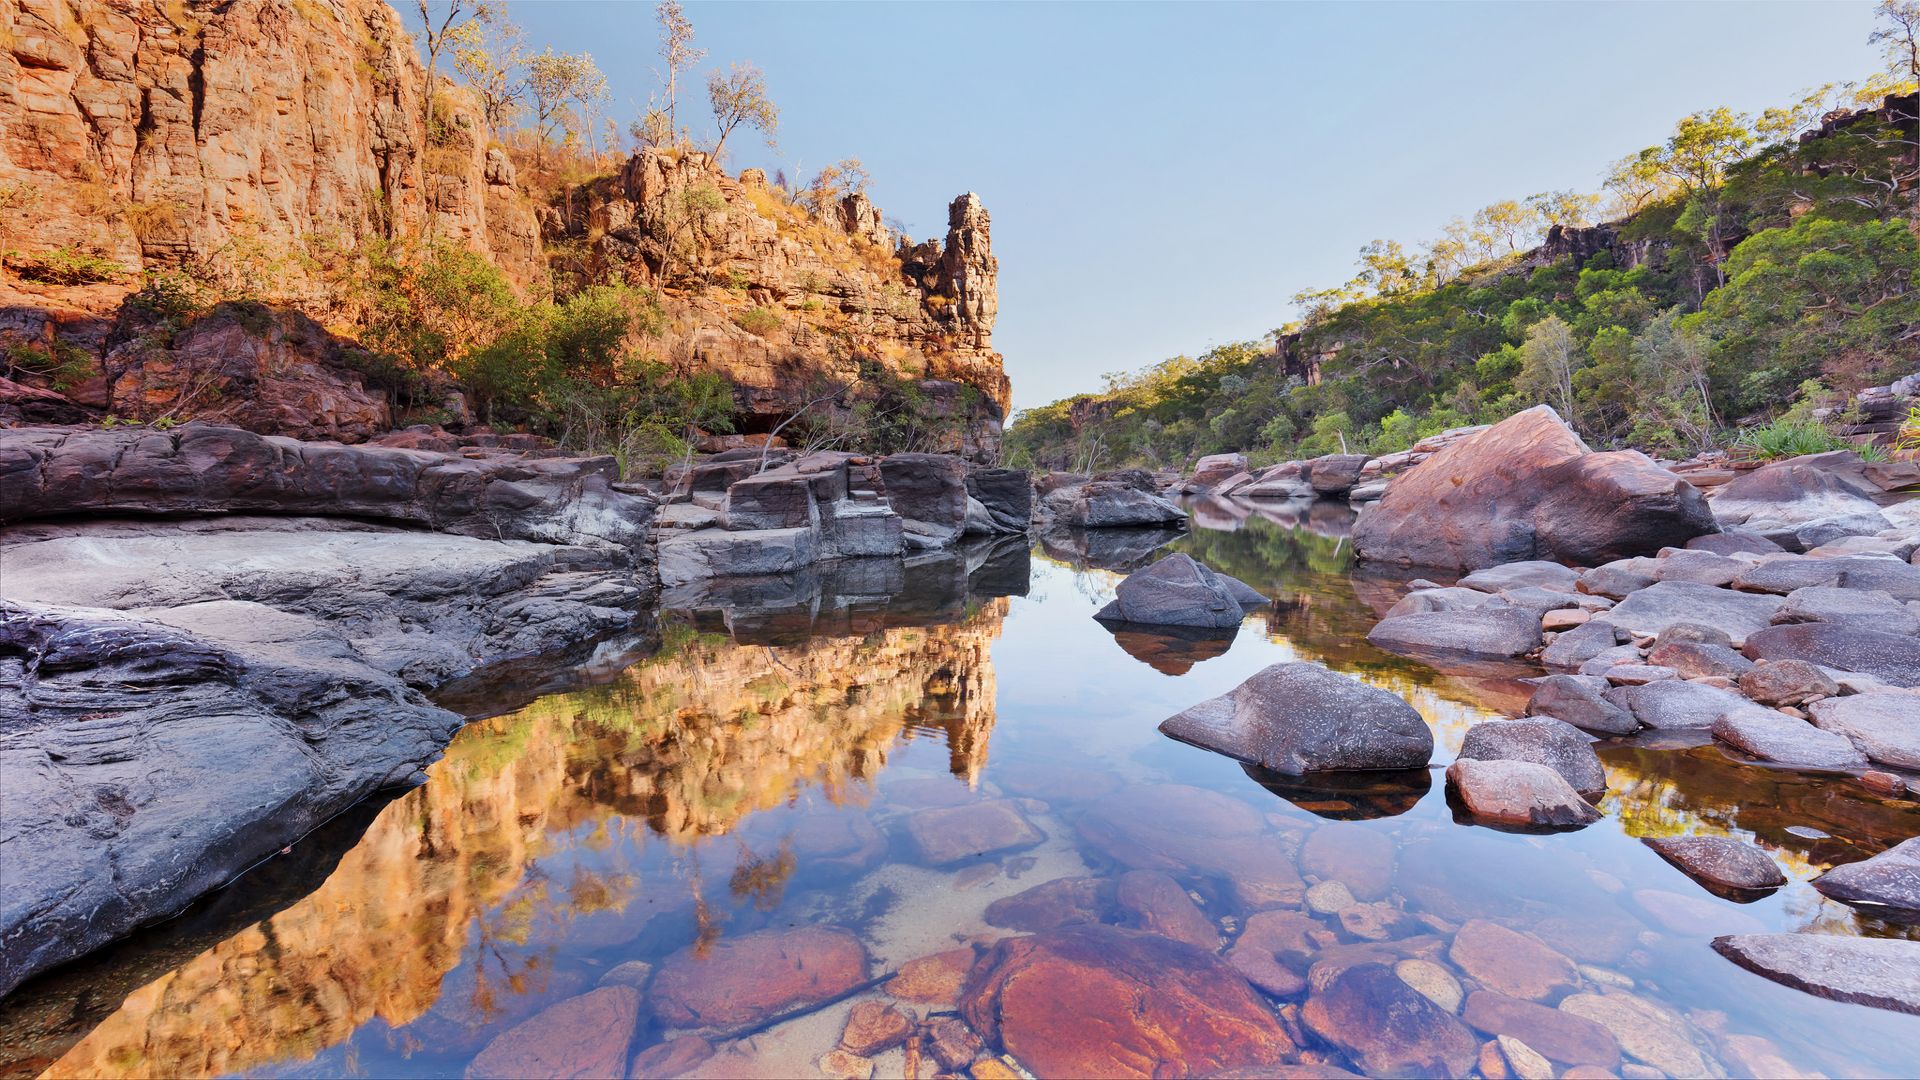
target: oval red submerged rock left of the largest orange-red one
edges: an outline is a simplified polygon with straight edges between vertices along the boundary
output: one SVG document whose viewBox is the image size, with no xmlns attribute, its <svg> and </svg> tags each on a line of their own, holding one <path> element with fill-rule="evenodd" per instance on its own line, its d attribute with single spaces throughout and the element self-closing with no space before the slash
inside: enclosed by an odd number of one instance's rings
<svg viewBox="0 0 1920 1080">
<path fill-rule="evenodd" d="M 760 930 L 722 940 L 705 957 L 674 953 L 649 999 L 666 1028 L 724 1034 L 831 1001 L 866 978 L 866 945 L 847 930 Z"/>
</svg>

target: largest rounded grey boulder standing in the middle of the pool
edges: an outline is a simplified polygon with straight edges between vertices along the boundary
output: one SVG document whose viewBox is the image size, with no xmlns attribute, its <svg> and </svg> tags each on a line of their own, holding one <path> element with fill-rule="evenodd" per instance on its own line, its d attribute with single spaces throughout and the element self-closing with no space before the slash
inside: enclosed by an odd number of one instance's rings
<svg viewBox="0 0 1920 1080">
<path fill-rule="evenodd" d="M 1434 746 L 1413 705 L 1315 663 L 1267 667 L 1160 730 L 1290 776 L 1425 769 Z"/>
</svg>

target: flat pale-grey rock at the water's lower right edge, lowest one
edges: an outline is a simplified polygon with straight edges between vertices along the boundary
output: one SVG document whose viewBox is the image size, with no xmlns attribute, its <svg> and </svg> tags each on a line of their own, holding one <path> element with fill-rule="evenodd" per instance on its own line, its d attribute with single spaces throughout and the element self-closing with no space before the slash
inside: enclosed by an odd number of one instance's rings
<svg viewBox="0 0 1920 1080">
<path fill-rule="evenodd" d="M 1713 949 L 1816 997 L 1920 1013 L 1920 942 L 1837 934 L 1732 934 Z"/>
</svg>

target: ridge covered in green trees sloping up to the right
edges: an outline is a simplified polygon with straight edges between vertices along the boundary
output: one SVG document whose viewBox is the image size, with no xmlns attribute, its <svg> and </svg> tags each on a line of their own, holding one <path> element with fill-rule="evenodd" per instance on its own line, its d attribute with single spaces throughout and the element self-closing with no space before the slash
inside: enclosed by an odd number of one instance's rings
<svg viewBox="0 0 1920 1080">
<path fill-rule="evenodd" d="M 1745 115 L 1705 110 L 1617 161 L 1294 296 L 1261 340 L 1177 356 L 1020 413 L 1016 465 L 1179 467 L 1392 452 L 1546 402 L 1590 442 L 1693 454 L 1837 444 L 1814 409 L 1920 367 L 1920 4 L 1885 69 Z M 1596 221 L 1601 219 L 1601 221 Z"/>
</svg>

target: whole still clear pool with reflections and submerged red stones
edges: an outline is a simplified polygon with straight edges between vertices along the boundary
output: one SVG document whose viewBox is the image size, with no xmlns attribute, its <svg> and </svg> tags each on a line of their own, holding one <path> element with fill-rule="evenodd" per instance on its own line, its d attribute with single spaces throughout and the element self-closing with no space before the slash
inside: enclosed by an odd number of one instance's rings
<svg viewBox="0 0 1920 1080">
<path fill-rule="evenodd" d="M 1528 1051 L 1555 1074 L 1920 1070 L 1920 1017 L 1709 945 L 1912 936 L 1807 880 L 1920 834 L 1920 807 L 1693 740 L 1603 744 L 1605 817 L 1584 830 L 1455 821 L 1440 769 L 1471 724 L 1524 705 L 1528 671 L 1367 646 L 1400 586 L 1354 577 L 1340 513 L 1317 513 L 1202 507 L 1185 536 L 668 596 L 645 640 L 447 690 L 488 719 L 424 786 L 0 1003 L 0 1067 L 995 1076 L 1160 1055 L 1400 1074 Z M 1167 548 L 1273 603 L 1212 638 L 1091 619 Z M 1407 698 L 1438 765 L 1300 782 L 1156 730 L 1286 659 Z M 1705 892 L 1640 844 L 1676 834 L 1753 840 L 1789 884 Z M 1054 945 L 996 947 L 1025 932 Z M 1342 974 L 1365 965 L 1398 982 Z M 843 1032 L 860 1057 L 833 1053 Z M 1501 1034 L 1526 1045 L 1488 1049 Z"/>
</svg>

